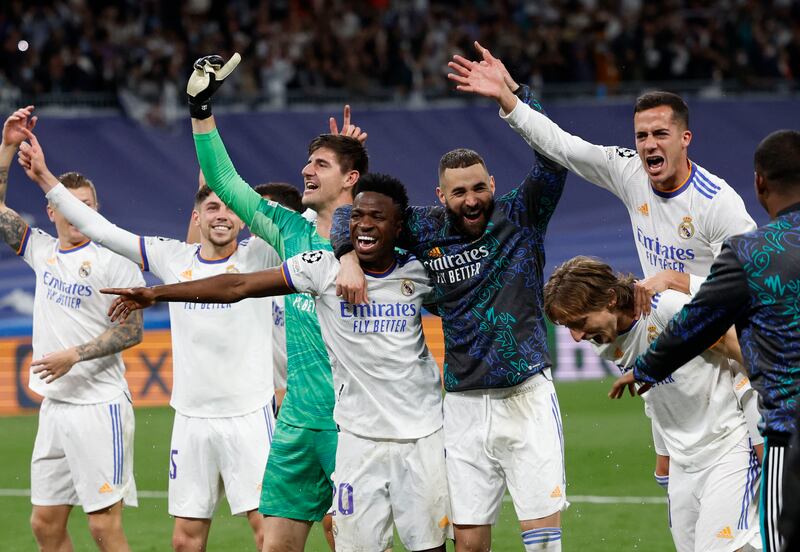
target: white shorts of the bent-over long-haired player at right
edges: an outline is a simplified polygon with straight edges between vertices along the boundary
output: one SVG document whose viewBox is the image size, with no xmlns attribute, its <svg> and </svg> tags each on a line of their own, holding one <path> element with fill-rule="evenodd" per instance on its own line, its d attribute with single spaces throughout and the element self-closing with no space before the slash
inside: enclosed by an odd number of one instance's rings
<svg viewBox="0 0 800 552">
<path fill-rule="evenodd" d="M 687 473 L 669 467 L 672 540 L 678 552 L 761 549 L 758 487 L 761 470 L 745 437 L 719 462 Z"/>
</svg>

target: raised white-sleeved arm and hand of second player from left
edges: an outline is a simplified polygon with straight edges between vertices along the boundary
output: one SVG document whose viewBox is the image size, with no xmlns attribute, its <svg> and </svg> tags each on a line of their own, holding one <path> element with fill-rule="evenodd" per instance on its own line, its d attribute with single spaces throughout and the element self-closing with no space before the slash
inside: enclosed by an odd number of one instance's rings
<svg viewBox="0 0 800 552">
<path fill-rule="evenodd" d="M 19 162 L 28 177 L 45 193 L 50 205 L 92 241 L 141 265 L 139 236 L 110 223 L 100 213 L 72 195 L 47 168 L 39 140 L 32 132 L 26 131 L 26 133 L 29 142 L 20 146 Z"/>
</svg>

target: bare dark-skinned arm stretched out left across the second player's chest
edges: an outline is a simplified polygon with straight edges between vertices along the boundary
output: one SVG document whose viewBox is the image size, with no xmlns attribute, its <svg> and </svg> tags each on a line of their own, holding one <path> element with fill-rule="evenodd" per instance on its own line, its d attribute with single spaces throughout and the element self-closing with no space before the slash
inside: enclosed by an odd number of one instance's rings
<svg viewBox="0 0 800 552">
<path fill-rule="evenodd" d="M 283 267 L 246 274 L 221 274 L 191 282 L 149 288 L 107 288 L 101 293 L 119 295 L 108 315 L 112 321 L 125 320 L 139 309 L 156 303 L 236 303 L 249 297 L 268 297 L 294 293 L 283 274 Z"/>
</svg>

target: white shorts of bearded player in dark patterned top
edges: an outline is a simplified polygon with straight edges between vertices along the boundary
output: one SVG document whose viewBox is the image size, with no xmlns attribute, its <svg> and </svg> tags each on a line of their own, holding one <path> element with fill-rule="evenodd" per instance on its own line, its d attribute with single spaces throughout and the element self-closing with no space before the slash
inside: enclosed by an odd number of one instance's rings
<svg viewBox="0 0 800 552">
<path fill-rule="evenodd" d="M 516 387 L 447 393 L 444 436 L 454 524 L 494 525 L 506 487 L 521 521 L 568 506 L 549 369 Z"/>
</svg>

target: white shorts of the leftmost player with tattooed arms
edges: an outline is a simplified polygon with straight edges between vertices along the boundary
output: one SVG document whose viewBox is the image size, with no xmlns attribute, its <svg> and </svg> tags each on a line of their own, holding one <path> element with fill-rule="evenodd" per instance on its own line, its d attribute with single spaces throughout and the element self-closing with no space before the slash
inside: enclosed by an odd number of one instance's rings
<svg viewBox="0 0 800 552">
<path fill-rule="evenodd" d="M 97 404 L 44 399 L 31 460 L 31 503 L 80 505 L 87 513 L 120 500 L 137 506 L 130 399 Z"/>
</svg>

